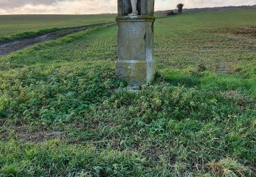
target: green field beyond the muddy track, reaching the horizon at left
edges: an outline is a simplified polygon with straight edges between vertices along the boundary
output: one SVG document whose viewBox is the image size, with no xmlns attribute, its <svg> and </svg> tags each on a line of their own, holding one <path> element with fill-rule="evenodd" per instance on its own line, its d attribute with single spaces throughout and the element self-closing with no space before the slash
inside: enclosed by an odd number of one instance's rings
<svg viewBox="0 0 256 177">
<path fill-rule="evenodd" d="M 0 16 L 0 44 L 60 31 L 69 27 L 84 27 L 113 22 L 115 14 L 100 15 L 12 15 Z"/>
</svg>

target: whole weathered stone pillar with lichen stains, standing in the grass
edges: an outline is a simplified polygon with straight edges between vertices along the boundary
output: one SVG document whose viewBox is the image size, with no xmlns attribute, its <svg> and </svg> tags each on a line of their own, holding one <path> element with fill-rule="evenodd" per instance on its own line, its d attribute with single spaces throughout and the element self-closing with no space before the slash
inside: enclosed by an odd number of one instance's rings
<svg viewBox="0 0 256 177">
<path fill-rule="evenodd" d="M 115 72 L 130 86 L 141 86 L 150 82 L 154 76 L 155 64 L 153 59 L 154 42 L 154 1 L 139 0 L 138 16 L 130 15 L 132 8 L 130 0 L 119 0 L 118 25 L 118 61 Z M 148 3 L 151 4 L 148 4 Z M 150 7 L 151 8 L 150 8 Z M 153 10 L 152 10 L 153 8 Z M 126 14 L 124 14 L 124 12 Z"/>
</svg>

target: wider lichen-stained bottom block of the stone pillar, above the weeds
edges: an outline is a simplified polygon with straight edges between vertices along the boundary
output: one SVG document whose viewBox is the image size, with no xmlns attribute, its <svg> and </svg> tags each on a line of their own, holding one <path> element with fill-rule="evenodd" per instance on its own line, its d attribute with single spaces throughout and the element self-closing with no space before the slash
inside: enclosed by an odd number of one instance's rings
<svg viewBox="0 0 256 177">
<path fill-rule="evenodd" d="M 129 86 L 141 86 L 154 77 L 155 62 L 119 60 L 115 63 L 115 74 L 128 82 Z"/>
</svg>

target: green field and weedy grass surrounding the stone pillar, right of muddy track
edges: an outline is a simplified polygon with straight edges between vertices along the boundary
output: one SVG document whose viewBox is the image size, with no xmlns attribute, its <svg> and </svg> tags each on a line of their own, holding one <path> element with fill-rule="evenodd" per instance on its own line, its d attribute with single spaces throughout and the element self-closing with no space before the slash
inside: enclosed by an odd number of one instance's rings
<svg viewBox="0 0 256 177">
<path fill-rule="evenodd" d="M 0 176 L 255 176 L 255 16 L 157 19 L 138 93 L 115 77 L 116 25 L 1 57 Z"/>
</svg>

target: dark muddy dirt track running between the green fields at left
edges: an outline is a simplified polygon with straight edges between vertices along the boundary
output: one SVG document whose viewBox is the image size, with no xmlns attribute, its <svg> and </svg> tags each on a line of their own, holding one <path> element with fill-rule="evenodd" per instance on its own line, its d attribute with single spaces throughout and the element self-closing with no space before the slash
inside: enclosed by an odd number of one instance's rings
<svg viewBox="0 0 256 177">
<path fill-rule="evenodd" d="M 0 57 L 5 55 L 11 54 L 17 50 L 21 50 L 23 48 L 27 48 L 29 46 L 33 46 L 38 43 L 47 42 L 50 40 L 55 40 L 65 35 L 69 35 L 72 33 L 78 33 L 80 31 L 85 31 L 92 27 L 103 27 L 107 25 L 112 25 L 113 23 L 106 23 L 106 24 L 98 24 L 98 25 L 89 25 L 87 27 L 80 27 L 80 28 L 70 28 L 64 29 L 61 31 L 55 31 L 52 33 L 46 33 L 44 35 L 40 35 L 37 37 L 31 37 L 29 39 L 18 39 L 14 42 L 8 42 L 6 44 L 0 44 Z"/>
</svg>

